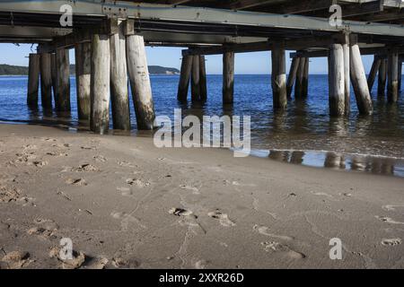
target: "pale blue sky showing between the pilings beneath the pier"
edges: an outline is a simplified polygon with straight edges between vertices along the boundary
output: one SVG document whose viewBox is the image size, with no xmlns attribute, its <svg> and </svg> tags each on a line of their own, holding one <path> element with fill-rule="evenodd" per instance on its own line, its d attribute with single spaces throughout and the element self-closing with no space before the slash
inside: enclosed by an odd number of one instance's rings
<svg viewBox="0 0 404 287">
<path fill-rule="evenodd" d="M 162 65 L 180 69 L 181 48 L 146 48 L 149 65 Z M 35 50 L 35 47 L 33 47 Z M 22 44 L 20 47 L 13 44 L 0 44 L 0 64 L 28 65 L 28 55 L 31 53 L 31 45 Z M 75 63 L 74 52 L 71 50 L 70 61 Z M 368 72 L 371 68 L 373 57 L 364 56 L 364 69 Z M 236 74 L 270 74 L 270 52 L 236 54 Z M 287 67 L 290 59 L 287 55 Z M 310 74 L 327 74 L 328 64 L 326 58 L 312 58 Z M 222 74 L 222 57 L 206 57 L 207 74 Z"/>
</svg>

